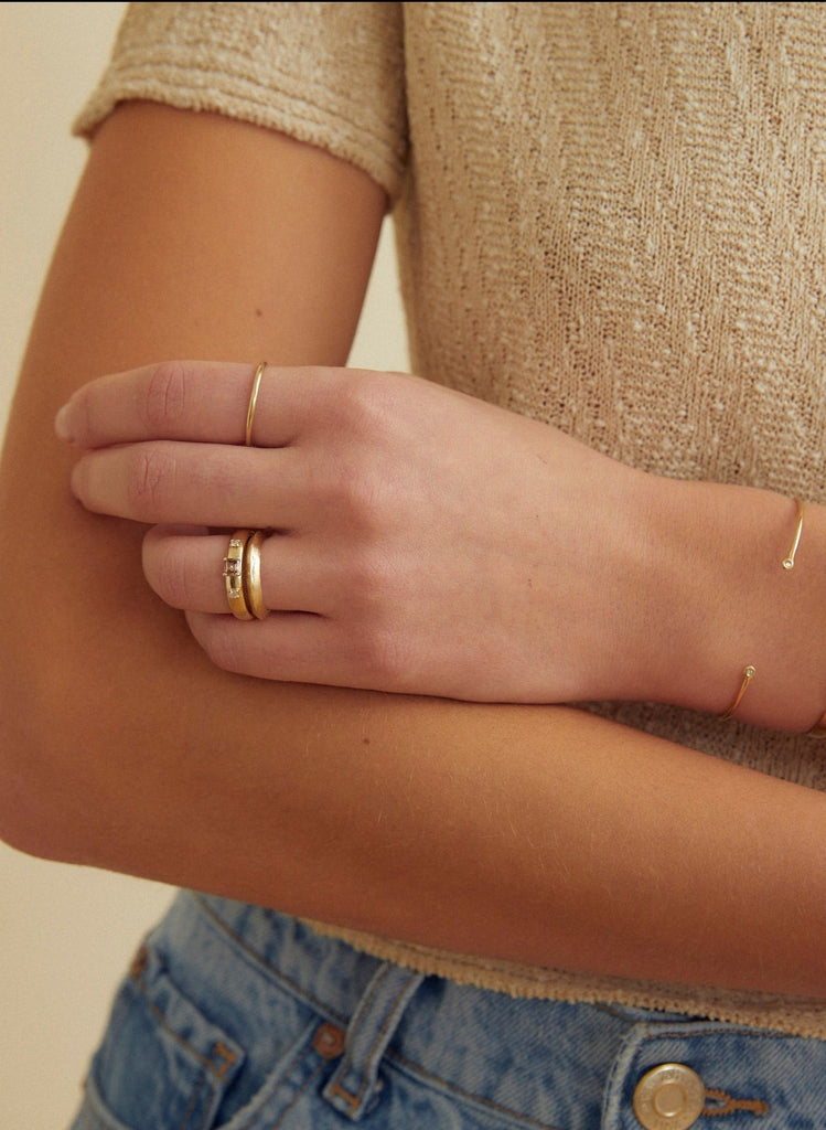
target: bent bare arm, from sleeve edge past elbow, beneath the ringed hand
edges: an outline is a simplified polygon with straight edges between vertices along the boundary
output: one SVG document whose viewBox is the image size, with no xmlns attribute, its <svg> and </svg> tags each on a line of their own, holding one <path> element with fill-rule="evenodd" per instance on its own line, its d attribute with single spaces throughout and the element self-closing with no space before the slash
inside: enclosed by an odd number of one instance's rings
<svg viewBox="0 0 826 1130">
<path fill-rule="evenodd" d="M 252 127 L 138 105 L 102 129 L 3 455 L 37 551 L 36 599 L 0 598 L 5 836 L 461 951 L 826 999 L 823 794 L 577 711 L 228 673 L 147 585 L 144 528 L 71 498 L 52 421 L 95 375 L 344 365 L 383 206 Z"/>
</svg>

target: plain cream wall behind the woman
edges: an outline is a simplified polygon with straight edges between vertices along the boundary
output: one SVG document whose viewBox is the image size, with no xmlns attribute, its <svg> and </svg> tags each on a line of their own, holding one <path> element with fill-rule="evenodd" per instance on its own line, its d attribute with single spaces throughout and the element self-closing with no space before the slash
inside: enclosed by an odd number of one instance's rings
<svg viewBox="0 0 826 1130">
<path fill-rule="evenodd" d="M 107 58 L 124 8 L 0 6 L 0 427 L 84 164 L 85 145 L 69 136 L 69 125 Z M 407 367 L 386 232 L 351 359 L 364 367 Z M 3 542 L 8 548 L 8 537 Z M 14 709 L 0 688 L 0 710 Z M 3 1127 L 68 1127 L 113 988 L 171 895 L 157 884 L 29 859 L 0 844 Z"/>
</svg>

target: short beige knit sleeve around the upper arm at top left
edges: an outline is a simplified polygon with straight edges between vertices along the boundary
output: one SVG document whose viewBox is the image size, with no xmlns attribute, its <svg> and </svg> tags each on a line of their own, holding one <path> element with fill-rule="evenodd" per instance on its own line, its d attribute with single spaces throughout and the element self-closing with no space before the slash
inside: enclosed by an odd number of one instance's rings
<svg viewBox="0 0 826 1130">
<path fill-rule="evenodd" d="M 401 5 L 130 5 L 75 132 L 90 136 L 130 99 L 288 133 L 393 199 L 407 155 Z"/>
</svg>

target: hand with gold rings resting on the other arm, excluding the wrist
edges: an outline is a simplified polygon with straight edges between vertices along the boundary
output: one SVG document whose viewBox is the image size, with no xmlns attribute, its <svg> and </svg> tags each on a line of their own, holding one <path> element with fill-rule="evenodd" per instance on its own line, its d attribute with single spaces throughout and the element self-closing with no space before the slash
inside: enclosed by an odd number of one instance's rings
<svg viewBox="0 0 826 1130">
<path fill-rule="evenodd" d="M 218 666 L 477 701 L 616 693 L 633 640 L 612 579 L 633 590 L 647 476 L 416 377 L 347 370 L 268 367 L 246 447 L 251 384 L 249 365 L 158 365 L 86 385 L 59 424 L 87 449 L 75 494 L 153 527 L 147 580 Z M 238 528 L 269 533 L 264 620 L 229 615 Z"/>
</svg>

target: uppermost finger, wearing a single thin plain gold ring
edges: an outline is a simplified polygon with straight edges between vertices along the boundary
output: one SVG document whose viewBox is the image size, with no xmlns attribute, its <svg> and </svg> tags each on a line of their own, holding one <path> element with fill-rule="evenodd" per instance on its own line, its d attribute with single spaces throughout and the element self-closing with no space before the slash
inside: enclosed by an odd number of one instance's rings
<svg viewBox="0 0 826 1130">
<path fill-rule="evenodd" d="M 61 408 L 55 432 L 79 447 L 148 440 L 243 444 L 255 370 L 235 363 L 164 362 L 103 376 Z M 266 367 L 254 405 L 257 446 L 284 446 L 295 435 L 304 399 L 301 392 L 290 394 L 298 373 Z"/>
</svg>

